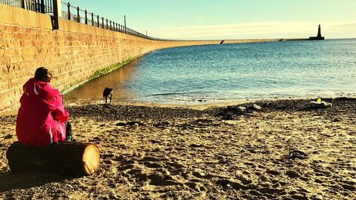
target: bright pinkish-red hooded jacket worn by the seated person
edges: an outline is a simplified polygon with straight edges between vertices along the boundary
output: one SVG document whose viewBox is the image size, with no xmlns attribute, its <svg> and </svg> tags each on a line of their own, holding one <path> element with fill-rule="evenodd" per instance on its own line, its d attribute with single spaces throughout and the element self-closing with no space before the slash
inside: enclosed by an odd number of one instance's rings
<svg viewBox="0 0 356 200">
<path fill-rule="evenodd" d="M 20 103 L 16 135 L 21 144 L 41 147 L 66 140 L 68 112 L 58 90 L 31 78 L 23 85 Z"/>
</svg>

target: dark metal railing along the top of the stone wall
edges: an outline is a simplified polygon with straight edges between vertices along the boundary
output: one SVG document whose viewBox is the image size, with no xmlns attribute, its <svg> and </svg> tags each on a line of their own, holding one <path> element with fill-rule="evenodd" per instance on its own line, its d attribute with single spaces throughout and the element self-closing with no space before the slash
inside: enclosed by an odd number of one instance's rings
<svg viewBox="0 0 356 200">
<path fill-rule="evenodd" d="M 54 0 L 56 1 L 56 0 Z M 0 0 L 0 4 L 6 4 L 9 6 L 16 6 L 22 9 L 30 11 L 41 12 L 43 14 L 49 14 L 53 16 L 53 0 Z M 156 41 L 174 41 L 162 38 L 153 38 L 144 35 L 138 31 L 135 31 L 127 26 L 124 26 L 115 21 L 105 19 L 103 16 L 95 15 L 87 10 L 80 9 L 78 6 L 72 6 L 69 2 L 63 2 L 62 4 L 62 19 L 68 19 L 70 21 L 76 21 L 78 23 L 85 23 L 89 26 L 96 26 L 99 28 L 105 28 L 111 31 L 117 31 L 120 33 L 137 36 L 140 38 L 147 38 Z"/>
</svg>

